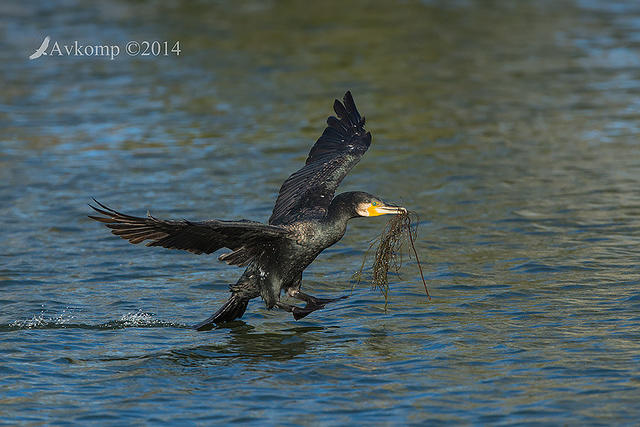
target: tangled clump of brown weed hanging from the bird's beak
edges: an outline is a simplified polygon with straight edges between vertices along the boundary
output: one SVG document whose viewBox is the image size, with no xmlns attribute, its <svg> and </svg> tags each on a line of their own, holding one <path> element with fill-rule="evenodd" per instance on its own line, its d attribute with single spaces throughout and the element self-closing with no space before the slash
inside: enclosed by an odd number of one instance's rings
<svg viewBox="0 0 640 427">
<path fill-rule="evenodd" d="M 412 217 L 416 224 L 412 224 Z M 427 298 L 431 300 L 429 290 L 427 289 L 427 282 L 424 280 L 424 274 L 422 273 L 422 265 L 420 265 L 418 252 L 414 245 L 416 237 L 418 236 L 417 218 L 418 217 L 414 212 L 393 215 L 382 230 L 380 236 L 371 242 L 369 249 L 367 249 L 364 254 L 360 269 L 353 275 L 353 279 L 356 281 L 357 285 L 362 280 L 362 271 L 364 270 L 364 265 L 367 261 L 369 252 L 376 243 L 378 243 L 378 247 L 376 248 L 376 257 L 373 261 L 372 267 L 371 287 L 379 289 L 382 295 L 384 295 L 385 312 L 387 311 L 387 304 L 389 302 L 389 279 L 387 276 L 390 269 L 393 269 L 396 273 L 400 273 L 400 267 L 402 267 L 402 245 L 407 241 L 416 257 L 418 269 L 420 270 L 420 277 L 422 278 Z"/>
</svg>

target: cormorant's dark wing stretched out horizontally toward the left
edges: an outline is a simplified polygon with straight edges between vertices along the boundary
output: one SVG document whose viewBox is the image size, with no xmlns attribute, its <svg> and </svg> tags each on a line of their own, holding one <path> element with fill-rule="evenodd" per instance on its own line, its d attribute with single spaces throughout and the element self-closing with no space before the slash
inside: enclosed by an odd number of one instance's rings
<svg viewBox="0 0 640 427">
<path fill-rule="evenodd" d="M 270 244 L 288 238 L 290 232 L 282 227 L 259 222 L 209 220 L 163 220 L 147 214 L 146 218 L 125 215 L 93 199 L 100 208 L 91 206 L 102 216 L 89 218 L 104 223 L 116 236 L 137 244 L 150 240 L 147 246 L 183 249 L 195 254 L 210 254 L 220 248 L 233 252 L 220 256 L 229 264 L 246 265 L 262 254 Z"/>
</svg>

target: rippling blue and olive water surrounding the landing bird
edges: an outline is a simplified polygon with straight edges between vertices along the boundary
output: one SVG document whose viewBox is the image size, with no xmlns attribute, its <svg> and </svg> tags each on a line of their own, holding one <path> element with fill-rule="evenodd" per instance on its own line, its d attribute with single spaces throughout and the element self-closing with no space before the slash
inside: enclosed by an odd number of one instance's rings
<svg viewBox="0 0 640 427">
<path fill-rule="evenodd" d="M 5 2 L 0 34 L 0 423 L 637 423 L 637 2 Z M 303 281 L 348 299 L 196 332 L 241 270 L 86 217 L 266 221 L 347 89 L 341 191 L 418 212 L 430 302 L 407 258 L 386 312 L 354 287 L 359 219 Z"/>
</svg>

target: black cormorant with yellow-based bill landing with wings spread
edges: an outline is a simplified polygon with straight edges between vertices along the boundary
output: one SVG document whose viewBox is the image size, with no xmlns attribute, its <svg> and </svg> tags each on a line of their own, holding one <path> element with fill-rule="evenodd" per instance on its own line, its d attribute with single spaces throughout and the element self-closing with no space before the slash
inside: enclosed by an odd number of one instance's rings
<svg viewBox="0 0 640 427">
<path fill-rule="evenodd" d="M 371 144 L 351 92 L 343 102 L 335 100 L 338 117 L 327 119 L 327 128 L 311 148 L 302 169 L 280 188 L 269 224 L 249 220 L 162 220 L 125 215 L 97 200 L 91 206 L 102 216 L 89 216 L 105 223 L 111 232 L 130 243 L 150 240 L 147 246 L 184 249 L 210 254 L 221 248 L 231 252 L 218 259 L 246 266 L 231 297 L 210 318 L 195 326 L 211 329 L 217 323 L 242 317 L 249 300 L 261 296 L 267 308 L 278 307 L 293 313 L 297 320 L 338 299 L 320 299 L 300 291 L 302 272 L 326 248 L 342 238 L 351 218 L 406 212 L 368 193 L 353 191 L 334 197 L 336 188 L 358 163 Z M 280 301 L 280 294 L 304 301 L 304 307 Z M 344 298 L 344 297 L 343 297 Z"/>
</svg>

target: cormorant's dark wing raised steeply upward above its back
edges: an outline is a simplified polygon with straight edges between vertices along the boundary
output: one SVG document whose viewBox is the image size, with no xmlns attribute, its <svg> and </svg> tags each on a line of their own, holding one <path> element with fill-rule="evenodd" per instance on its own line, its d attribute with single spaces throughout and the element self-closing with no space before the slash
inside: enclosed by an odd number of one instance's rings
<svg viewBox="0 0 640 427">
<path fill-rule="evenodd" d="M 327 119 L 327 128 L 309 152 L 305 166 L 280 188 L 269 224 L 288 224 L 309 214 L 326 214 L 340 181 L 360 160 L 371 144 L 351 92 L 343 102 L 336 99 L 337 118 Z"/>
</svg>

